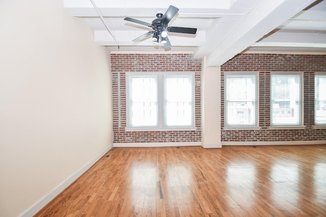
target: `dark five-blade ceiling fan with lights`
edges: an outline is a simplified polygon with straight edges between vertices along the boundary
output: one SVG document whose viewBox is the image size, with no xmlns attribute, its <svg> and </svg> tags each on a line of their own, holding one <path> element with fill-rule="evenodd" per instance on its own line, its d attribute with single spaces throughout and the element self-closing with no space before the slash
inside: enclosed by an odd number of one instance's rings
<svg viewBox="0 0 326 217">
<path fill-rule="evenodd" d="M 172 20 L 172 18 L 178 13 L 179 9 L 170 5 L 168 10 L 165 12 L 165 14 L 158 13 L 156 14 L 156 19 L 152 21 L 152 23 L 144 22 L 141 20 L 133 19 L 130 17 L 124 18 L 124 20 L 139 23 L 142 25 L 146 25 L 148 27 L 151 27 L 153 31 L 150 31 L 148 33 L 145 33 L 144 35 L 135 38 L 132 40 L 133 42 L 138 42 L 150 35 L 153 34 L 152 40 L 155 44 L 162 43 L 164 44 L 165 48 L 171 47 L 171 43 L 168 39 L 168 33 L 186 33 L 186 34 L 196 34 L 197 28 L 187 28 L 187 27 L 176 27 L 176 26 L 168 26 L 169 22 Z"/>
</svg>

